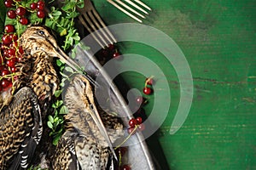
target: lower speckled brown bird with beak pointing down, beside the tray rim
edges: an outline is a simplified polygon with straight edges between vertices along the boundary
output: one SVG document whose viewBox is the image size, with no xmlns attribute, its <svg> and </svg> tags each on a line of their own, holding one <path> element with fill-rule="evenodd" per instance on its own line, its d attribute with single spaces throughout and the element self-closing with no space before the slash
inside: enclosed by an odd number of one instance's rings
<svg viewBox="0 0 256 170">
<path fill-rule="evenodd" d="M 104 111 L 98 113 L 90 82 L 82 75 L 75 76 L 70 82 L 64 102 L 68 109 L 66 131 L 57 144 L 52 168 L 107 169 L 113 159 L 113 147 L 109 146 L 101 127 L 103 124 L 113 143 L 123 135 L 119 118 Z"/>
</svg>

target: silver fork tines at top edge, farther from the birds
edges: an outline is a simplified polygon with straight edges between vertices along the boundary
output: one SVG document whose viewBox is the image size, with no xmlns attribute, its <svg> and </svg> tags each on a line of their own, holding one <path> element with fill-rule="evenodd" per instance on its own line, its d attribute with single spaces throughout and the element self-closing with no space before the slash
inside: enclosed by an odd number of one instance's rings
<svg viewBox="0 0 256 170">
<path fill-rule="evenodd" d="M 120 0 L 107 0 L 108 3 L 113 4 L 114 7 L 118 8 L 120 11 L 124 12 L 125 14 L 127 14 L 128 16 L 130 16 L 132 19 L 137 20 L 138 22 L 143 22 L 142 19 L 145 19 L 145 15 L 144 14 L 148 14 L 148 11 L 151 11 L 151 8 L 148 7 L 148 5 L 146 5 L 145 3 L 141 2 L 140 0 L 125 0 L 124 2 L 120 1 Z M 117 3 L 115 3 L 117 2 Z M 126 9 L 127 10 L 126 10 Z M 143 14 L 140 14 L 139 12 L 137 12 L 137 10 L 143 12 Z M 130 12 L 129 12 L 130 11 Z"/>
</svg>

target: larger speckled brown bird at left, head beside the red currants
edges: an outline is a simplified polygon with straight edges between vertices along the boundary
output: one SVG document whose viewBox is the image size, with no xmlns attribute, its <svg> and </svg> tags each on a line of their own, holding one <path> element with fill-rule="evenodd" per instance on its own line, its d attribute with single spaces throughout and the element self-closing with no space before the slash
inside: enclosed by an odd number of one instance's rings
<svg viewBox="0 0 256 170">
<path fill-rule="evenodd" d="M 3 102 L 0 113 L 0 169 L 6 166 L 25 168 L 31 161 L 42 134 L 42 121 L 43 127 L 46 124 L 44 118 L 49 114 L 49 101 L 59 87 L 53 58 L 61 59 L 73 69 L 78 68 L 44 26 L 28 26 L 19 43 L 25 52 L 23 61 L 17 65 L 20 78 L 13 85 L 15 95 Z M 38 118 L 40 111 L 42 119 Z M 44 133 L 49 139 L 45 129 Z M 45 139 L 44 133 L 42 139 Z"/>
</svg>

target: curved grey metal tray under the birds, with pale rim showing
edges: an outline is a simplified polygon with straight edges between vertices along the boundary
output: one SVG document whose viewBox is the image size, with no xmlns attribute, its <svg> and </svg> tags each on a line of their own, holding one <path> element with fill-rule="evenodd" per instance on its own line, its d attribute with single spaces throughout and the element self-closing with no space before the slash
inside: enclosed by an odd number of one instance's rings
<svg viewBox="0 0 256 170">
<path fill-rule="evenodd" d="M 131 110 L 125 103 L 125 99 L 120 94 L 119 89 L 109 77 L 108 72 L 102 68 L 102 65 L 90 50 L 84 50 L 82 46 L 84 44 L 86 46 L 85 41 L 86 38 L 81 41 L 81 44 L 76 46 L 75 60 L 81 67 L 84 67 L 84 71 L 86 71 L 90 77 L 96 78 L 96 82 L 100 85 L 100 88 L 95 88 L 96 96 L 100 96 L 98 99 L 102 101 L 108 101 L 105 102 L 105 105 L 104 102 L 102 102 L 103 107 L 118 113 L 121 117 L 125 125 L 125 139 L 128 136 L 126 130 L 128 121 L 132 117 Z M 116 144 L 124 139 L 119 139 Z M 153 162 L 153 159 L 149 154 L 148 146 L 144 141 L 143 133 L 137 132 L 131 135 L 131 138 L 129 138 L 124 145 L 128 147 L 128 151 L 125 153 L 125 156 L 122 157 L 122 160 L 125 164 L 129 164 L 132 170 L 156 169 L 156 164 Z"/>
</svg>

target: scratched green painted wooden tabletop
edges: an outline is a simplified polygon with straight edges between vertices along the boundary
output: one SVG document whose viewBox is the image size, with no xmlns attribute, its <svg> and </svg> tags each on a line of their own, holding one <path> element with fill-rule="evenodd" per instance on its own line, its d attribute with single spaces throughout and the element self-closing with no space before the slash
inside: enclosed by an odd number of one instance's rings
<svg viewBox="0 0 256 170">
<path fill-rule="evenodd" d="M 148 139 L 150 150 L 163 169 L 255 169 L 256 2 L 144 2 L 154 9 L 153 22 L 145 23 L 177 42 L 188 59 L 195 88 L 186 122 L 170 135 L 179 101 L 177 75 L 154 49 L 124 43 L 124 54 L 152 59 L 170 82 L 171 108 L 159 131 Z M 134 22 L 105 1 L 96 1 L 96 8 L 108 25 Z M 143 87 L 142 75 L 127 72 L 122 76 L 131 88 Z M 150 112 L 153 105 L 149 100 L 145 110 Z"/>
</svg>

